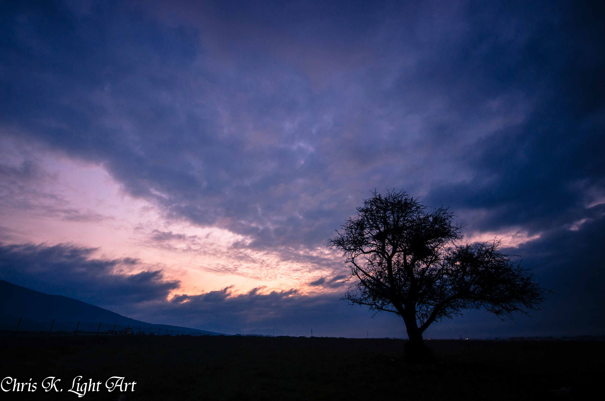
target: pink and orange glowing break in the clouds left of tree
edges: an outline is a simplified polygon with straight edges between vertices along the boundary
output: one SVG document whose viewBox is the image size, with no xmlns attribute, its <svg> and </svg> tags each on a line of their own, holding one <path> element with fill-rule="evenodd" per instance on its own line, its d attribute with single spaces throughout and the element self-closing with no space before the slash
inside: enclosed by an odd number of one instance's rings
<svg viewBox="0 0 605 401">
<path fill-rule="evenodd" d="M 307 283 L 330 274 L 306 261 L 283 260 L 278 251 L 234 248 L 234 243 L 250 239 L 227 229 L 169 219 L 158 205 L 126 194 L 102 165 L 51 153 L 41 153 L 39 159 L 52 179 L 36 183 L 38 196 L 29 208 L 13 205 L 2 210 L 3 226 L 10 232 L 4 243 L 73 243 L 98 248 L 97 258 L 137 258 L 140 264 L 123 268 L 125 272 L 161 269 L 166 279 L 181 281 L 171 296 L 229 286 L 234 294 L 256 287 L 263 292 L 317 292 Z M 169 237 L 154 240 L 162 234 Z M 310 253 L 335 257 L 326 249 Z"/>
</svg>

